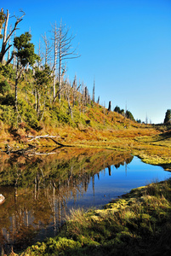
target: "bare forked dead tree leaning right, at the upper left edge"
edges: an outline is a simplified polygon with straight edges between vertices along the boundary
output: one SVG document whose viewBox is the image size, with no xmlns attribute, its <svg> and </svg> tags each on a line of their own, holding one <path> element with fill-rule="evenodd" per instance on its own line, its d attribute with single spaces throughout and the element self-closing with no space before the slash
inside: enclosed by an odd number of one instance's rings
<svg viewBox="0 0 171 256">
<path fill-rule="evenodd" d="M 3 12 L 3 9 L 1 10 L 1 13 L 2 12 Z M 14 23 L 14 27 L 10 30 L 10 32 L 8 34 L 7 31 L 8 31 L 8 25 L 9 25 L 9 10 L 7 10 L 7 15 L 5 16 L 5 20 L 4 20 L 3 43 L 2 43 L 2 48 L 1 48 L 1 52 L 0 52 L 0 63 L 3 63 L 5 54 L 12 46 L 12 44 L 8 45 L 9 38 L 14 33 L 14 31 L 17 30 L 18 24 L 20 23 L 21 20 L 23 20 L 23 17 L 26 15 L 25 12 L 23 12 L 22 10 L 20 10 L 20 12 L 22 13 L 22 15 L 20 17 L 14 16 L 16 21 Z M 14 58 L 14 54 L 11 55 L 11 57 L 9 58 L 9 60 L 7 61 L 6 64 L 9 64 L 13 60 L 13 58 Z"/>
</svg>

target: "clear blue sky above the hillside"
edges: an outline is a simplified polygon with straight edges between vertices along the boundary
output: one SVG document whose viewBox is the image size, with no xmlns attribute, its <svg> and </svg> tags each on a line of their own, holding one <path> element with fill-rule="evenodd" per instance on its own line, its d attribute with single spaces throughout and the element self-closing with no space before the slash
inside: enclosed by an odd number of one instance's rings
<svg viewBox="0 0 171 256">
<path fill-rule="evenodd" d="M 76 35 L 80 58 L 68 61 L 95 100 L 119 106 L 134 119 L 163 122 L 171 108 L 171 0 L 5 0 L 4 11 L 20 16 L 20 33 L 31 30 L 36 48 L 44 32 L 62 19 Z M 11 18 L 10 22 L 14 22 Z"/>
</svg>

